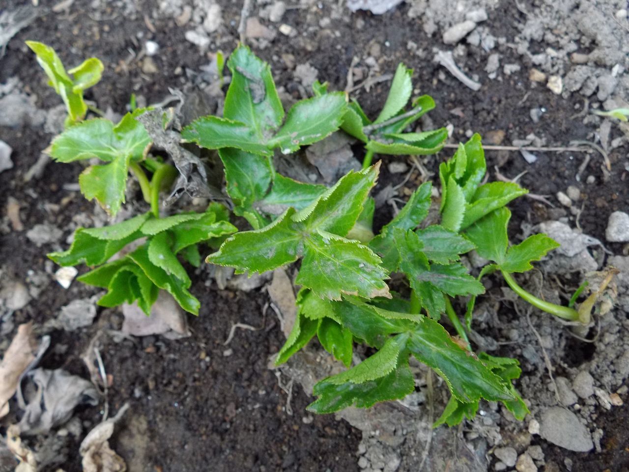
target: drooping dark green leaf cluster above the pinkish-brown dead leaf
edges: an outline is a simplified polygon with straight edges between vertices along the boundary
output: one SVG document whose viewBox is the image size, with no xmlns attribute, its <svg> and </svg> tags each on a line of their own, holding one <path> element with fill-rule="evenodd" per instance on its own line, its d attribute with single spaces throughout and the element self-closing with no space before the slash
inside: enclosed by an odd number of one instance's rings
<svg viewBox="0 0 629 472">
<path fill-rule="evenodd" d="M 79 276 L 83 283 L 108 289 L 101 306 L 137 301 L 147 315 L 165 290 L 187 312 L 198 315 L 199 301 L 188 291 L 191 280 L 177 256 L 201 264 L 199 244 L 216 245 L 237 231 L 227 209 L 212 203 L 204 213 L 155 218 L 151 213 L 103 228 L 79 228 L 68 250 L 48 257 L 60 266 L 97 266 Z M 118 257 L 113 257 L 118 254 Z M 111 260 L 110 260 L 111 259 Z"/>
</svg>

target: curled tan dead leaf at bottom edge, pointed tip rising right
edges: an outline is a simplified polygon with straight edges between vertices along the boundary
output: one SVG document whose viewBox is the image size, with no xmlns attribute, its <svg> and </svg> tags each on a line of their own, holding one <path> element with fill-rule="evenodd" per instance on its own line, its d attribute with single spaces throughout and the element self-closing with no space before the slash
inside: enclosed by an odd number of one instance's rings
<svg viewBox="0 0 629 472">
<path fill-rule="evenodd" d="M 79 452 L 83 456 L 81 465 L 83 472 L 125 472 L 125 460 L 109 447 L 109 438 L 114 432 L 114 425 L 128 410 L 125 403 L 116 416 L 110 418 L 92 429 L 81 442 Z"/>
</svg>

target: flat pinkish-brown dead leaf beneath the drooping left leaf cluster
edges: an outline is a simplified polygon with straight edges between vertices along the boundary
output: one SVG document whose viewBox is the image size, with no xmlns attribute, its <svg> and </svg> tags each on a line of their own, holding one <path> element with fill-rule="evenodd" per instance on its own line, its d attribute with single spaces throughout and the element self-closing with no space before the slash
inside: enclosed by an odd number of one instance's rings
<svg viewBox="0 0 629 472">
<path fill-rule="evenodd" d="M 133 305 L 122 306 L 122 313 L 125 321 L 122 324 L 122 332 L 133 336 L 149 336 L 162 334 L 168 339 L 179 339 L 188 337 L 190 331 L 186 322 L 186 316 L 172 295 L 160 290 L 157 301 L 151 307 L 151 315 L 147 315 L 138 307 Z"/>
</svg>

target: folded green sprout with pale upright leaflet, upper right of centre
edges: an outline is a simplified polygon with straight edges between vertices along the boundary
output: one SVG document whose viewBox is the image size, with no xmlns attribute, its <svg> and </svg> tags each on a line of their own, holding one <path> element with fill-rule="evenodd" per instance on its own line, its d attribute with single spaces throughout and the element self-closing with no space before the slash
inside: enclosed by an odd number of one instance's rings
<svg viewBox="0 0 629 472">
<path fill-rule="evenodd" d="M 360 104 L 353 100 L 343 116 L 343 131 L 365 143 L 367 151 L 363 168 L 369 167 L 374 154 L 426 155 L 435 154 L 443 147 L 448 132 L 445 128 L 421 133 L 405 133 L 408 126 L 435 108 L 435 101 L 422 95 L 412 103 L 411 110 L 404 107 L 411 98 L 413 69 L 399 64 L 391 83 L 384 107 L 376 120 L 370 121 Z"/>
</svg>

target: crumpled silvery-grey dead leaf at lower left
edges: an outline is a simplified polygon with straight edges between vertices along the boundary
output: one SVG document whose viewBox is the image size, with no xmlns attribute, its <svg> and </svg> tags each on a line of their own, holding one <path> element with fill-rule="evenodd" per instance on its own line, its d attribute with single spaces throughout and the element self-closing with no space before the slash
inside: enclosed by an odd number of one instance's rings
<svg viewBox="0 0 629 472">
<path fill-rule="evenodd" d="M 30 378 L 33 385 L 24 389 L 27 404 L 19 422 L 22 435 L 45 434 L 67 422 L 77 405 L 98 404 L 94 385 L 64 369 L 35 369 L 26 378 Z"/>
</svg>

